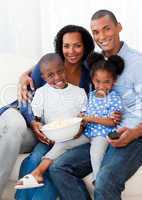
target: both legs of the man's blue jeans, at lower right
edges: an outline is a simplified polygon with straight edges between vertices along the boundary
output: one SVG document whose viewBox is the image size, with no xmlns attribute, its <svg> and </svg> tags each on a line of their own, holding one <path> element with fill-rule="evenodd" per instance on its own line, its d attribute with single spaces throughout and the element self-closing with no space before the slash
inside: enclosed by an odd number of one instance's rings
<svg viewBox="0 0 142 200">
<path fill-rule="evenodd" d="M 125 182 L 142 165 L 142 139 L 124 148 L 108 147 L 95 182 L 95 200 L 120 200 Z M 50 167 L 49 173 L 64 200 L 88 200 L 82 178 L 91 172 L 89 145 L 85 144 L 62 157 Z"/>
</svg>

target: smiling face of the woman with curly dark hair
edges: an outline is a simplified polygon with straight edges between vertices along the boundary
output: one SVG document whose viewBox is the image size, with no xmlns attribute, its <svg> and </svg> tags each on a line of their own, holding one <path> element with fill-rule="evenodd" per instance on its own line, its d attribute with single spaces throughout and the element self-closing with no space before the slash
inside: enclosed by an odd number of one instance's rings
<svg viewBox="0 0 142 200">
<path fill-rule="evenodd" d="M 65 62 L 70 64 L 80 63 L 84 55 L 84 44 L 79 32 L 64 34 L 63 55 Z"/>
</svg>

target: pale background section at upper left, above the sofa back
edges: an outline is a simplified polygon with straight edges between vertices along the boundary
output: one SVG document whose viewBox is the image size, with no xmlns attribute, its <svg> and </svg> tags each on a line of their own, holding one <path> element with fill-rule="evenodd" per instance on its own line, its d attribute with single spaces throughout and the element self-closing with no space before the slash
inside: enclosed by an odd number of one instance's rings
<svg viewBox="0 0 142 200">
<path fill-rule="evenodd" d="M 0 0 L 0 53 L 35 58 L 41 52 L 39 0 Z"/>
</svg>

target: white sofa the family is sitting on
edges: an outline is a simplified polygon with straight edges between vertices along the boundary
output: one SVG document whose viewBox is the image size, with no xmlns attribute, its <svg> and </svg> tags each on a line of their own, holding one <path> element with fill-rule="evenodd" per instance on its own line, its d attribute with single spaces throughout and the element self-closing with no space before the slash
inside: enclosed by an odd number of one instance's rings
<svg viewBox="0 0 142 200">
<path fill-rule="evenodd" d="M 0 106 L 5 105 L 16 99 L 17 81 L 21 72 L 32 66 L 34 61 L 16 55 L 0 55 Z M 10 179 L 16 181 L 19 166 L 26 155 L 19 155 Z M 87 188 L 92 192 L 92 185 L 89 177 L 85 177 Z M 122 200 L 142 200 L 142 167 L 126 183 L 122 194 Z M 7 188 L 6 188 L 7 189 Z M 6 194 L 7 190 L 5 191 Z M 3 200 L 13 200 L 14 190 L 9 194 L 9 198 L 3 196 Z"/>
</svg>

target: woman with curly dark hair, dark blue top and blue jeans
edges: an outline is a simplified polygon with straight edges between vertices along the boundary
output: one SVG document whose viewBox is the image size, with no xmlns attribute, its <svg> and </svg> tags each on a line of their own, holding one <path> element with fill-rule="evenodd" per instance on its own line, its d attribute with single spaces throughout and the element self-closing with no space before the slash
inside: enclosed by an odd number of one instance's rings
<svg viewBox="0 0 142 200">
<path fill-rule="evenodd" d="M 85 60 L 88 55 L 90 55 L 94 50 L 94 44 L 89 32 L 80 26 L 68 25 L 63 27 L 55 38 L 55 51 L 64 60 L 64 66 L 66 70 L 68 82 L 82 87 L 85 89 L 86 93 L 89 92 L 91 86 L 90 80 L 90 70 L 87 66 Z M 29 93 L 27 87 L 30 85 L 31 89 L 33 85 L 38 88 L 44 84 L 42 77 L 39 72 L 39 65 L 36 65 L 32 71 L 31 77 L 29 74 L 31 70 L 24 73 L 21 76 L 21 92 L 20 98 L 27 100 L 29 98 Z M 22 113 L 24 114 L 28 123 L 32 117 L 29 117 L 22 106 Z M 24 111 L 24 112 L 23 112 Z M 31 114 L 31 113 L 30 113 Z M 42 143 L 37 144 L 33 152 L 28 156 L 21 165 L 20 177 L 31 172 L 36 165 L 40 162 L 42 155 L 48 151 L 49 144 L 51 141 L 44 139 L 42 136 L 37 136 L 38 140 Z M 46 144 L 44 144 L 46 143 Z M 48 174 L 45 175 L 45 186 L 38 189 L 20 190 L 16 192 L 17 200 L 54 200 L 56 199 L 56 189 L 51 183 Z M 81 197 L 80 197 L 81 198 Z M 89 195 L 86 191 L 86 199 L 89 199 Z M 82 199 L 83 200 L 83 199 Z"/>
</svg>

